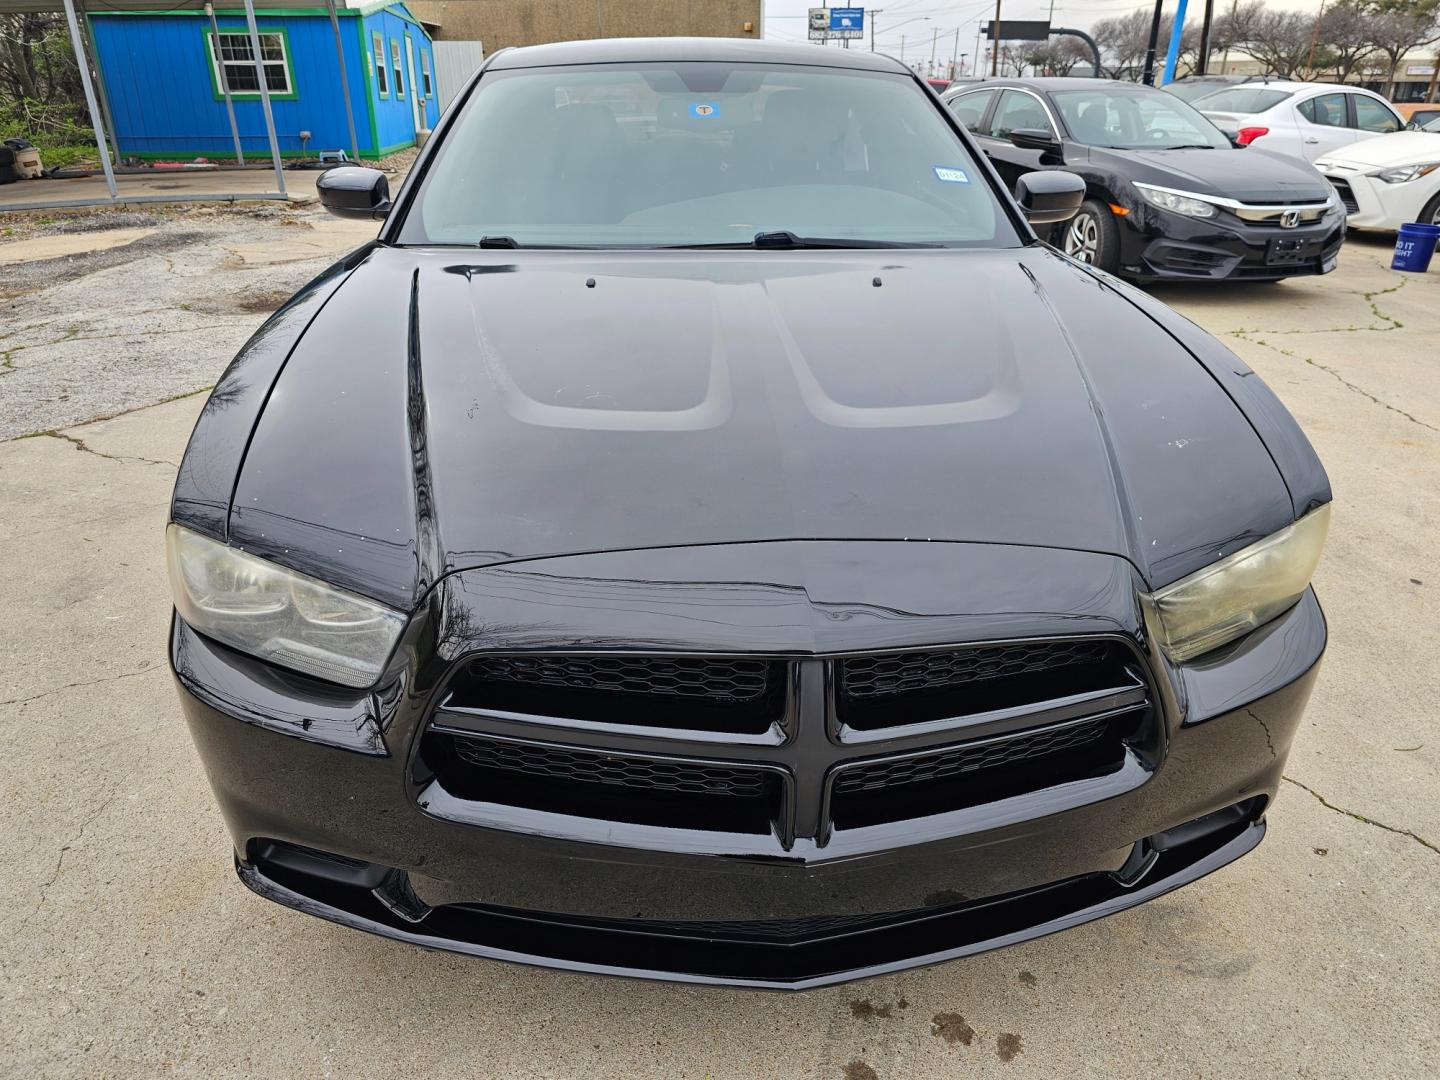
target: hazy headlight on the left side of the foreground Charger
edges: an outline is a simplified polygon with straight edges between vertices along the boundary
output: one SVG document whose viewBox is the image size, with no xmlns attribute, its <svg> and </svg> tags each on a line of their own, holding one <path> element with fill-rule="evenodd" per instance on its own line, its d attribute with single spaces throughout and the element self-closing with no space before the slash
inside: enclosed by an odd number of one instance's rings
<svg viewBox="0 0 1440 1080">
<path fill-rule="evenodd" d="M 405 629 L 400 612 L 180 526 L 166 554 L 176 609 L 196 631 L 317 678 L 373 684 Z"/>
</svg>

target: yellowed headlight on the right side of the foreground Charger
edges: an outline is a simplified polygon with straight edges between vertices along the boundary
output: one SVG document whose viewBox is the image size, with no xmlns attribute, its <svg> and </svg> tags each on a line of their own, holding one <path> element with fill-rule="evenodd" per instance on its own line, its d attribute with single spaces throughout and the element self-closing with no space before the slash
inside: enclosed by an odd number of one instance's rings
<svg viewBox="0 0 1440 1080">
<path fill-rule="evenodd" d="M 1331 504 L 1149 596 L 1161 645 L 1176 664 L 1248 634 L 1290 608 L 1310 583 Z"/>
</svg>

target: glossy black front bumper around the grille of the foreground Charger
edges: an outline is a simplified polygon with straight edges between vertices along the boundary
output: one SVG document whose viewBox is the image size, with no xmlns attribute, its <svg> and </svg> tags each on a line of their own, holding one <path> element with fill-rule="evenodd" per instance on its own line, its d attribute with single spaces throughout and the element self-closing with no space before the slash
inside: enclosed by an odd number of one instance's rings
<svg viewBox="0 0 1440 1080">
<path fill-rule="evenodd" d="M 920 818 L 873 842 L 858 829 L 848 844 L 726 852 L 696 837 L 662 847 L 625 829 L 579 838 L 539 818 L 520 831 L 436 814 L 413 783 L 420 727 L 403 707 L 361 694 L 301 708 L 312 684 L 179 621 L 171 636 L 184 713 L 256 893 L 429 948 L 786 989 L 1047 935 L 1240 857 L 1263 835 L 1323 648 L 1308 593 L 1223 658 L 1166 668 L 1162 753 L 1092 788 Z M 399 694 L 420 716 L 432 690 L 419 677 Z"/>
</svg>

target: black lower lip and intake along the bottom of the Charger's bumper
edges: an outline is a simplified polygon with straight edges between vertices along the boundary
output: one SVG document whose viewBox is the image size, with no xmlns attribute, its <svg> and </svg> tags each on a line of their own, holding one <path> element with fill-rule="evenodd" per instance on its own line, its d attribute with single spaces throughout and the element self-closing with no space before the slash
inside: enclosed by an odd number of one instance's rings
<svg viewBox="0 0 1440 1080">
<path fill-rule="evenodd" d="M 236 871 L 266 900 L 429 949 L 595 975 L 809 989 L 972 956 L 1123 912 L 1233 863 L 1260 842 L 1264 829 L 1263 818 L 1241 819 L 1164 850 L 1140 841 L 1136 850 L 1142 874 L 1130 883 L 1123 880 L 1123 871 L 1086 874 L 1005 897 L 877 917 L 783 942 L 478 904 L 406 909 L 397 894 L 405 897 L 408 890 L 403 884 L 397 888 L 393 878 L 370 890 L 284 868 L 266 873 L 239 860 Z"/>
</svg>

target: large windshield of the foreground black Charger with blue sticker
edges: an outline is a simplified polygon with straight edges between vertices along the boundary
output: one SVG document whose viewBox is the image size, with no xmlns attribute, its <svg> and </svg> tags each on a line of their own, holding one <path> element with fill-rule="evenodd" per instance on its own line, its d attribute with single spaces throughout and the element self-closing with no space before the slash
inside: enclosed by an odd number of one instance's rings
<svg viewBox="0 0 1440 1080">
<path fill-rule="evenodd" d="M 753 63 L 487 72 L 400 243 L 1015 246 L 943 114 L 900 73 Z M 785 246 L 757 243 L 757 246 Z"/>
</svg>

